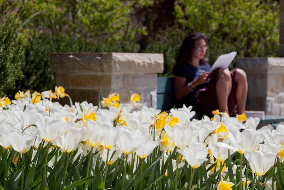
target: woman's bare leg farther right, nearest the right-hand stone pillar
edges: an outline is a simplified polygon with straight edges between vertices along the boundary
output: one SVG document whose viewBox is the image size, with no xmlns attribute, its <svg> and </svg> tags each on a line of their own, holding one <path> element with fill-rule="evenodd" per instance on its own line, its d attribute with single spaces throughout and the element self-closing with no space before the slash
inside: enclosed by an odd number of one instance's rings
<svg viewBox="0 0 284 190">
<path fill-rule="evenodd" d="M 237 69 L 236 79 L 238 82 L 238 87 L 236 90 L 237 111 L 238 114 L 242 114 L 245 113 L 245 105 L 246 105 L 247 92 L 248 92 L 248 82 L 245 71 Z"/>
</svg>

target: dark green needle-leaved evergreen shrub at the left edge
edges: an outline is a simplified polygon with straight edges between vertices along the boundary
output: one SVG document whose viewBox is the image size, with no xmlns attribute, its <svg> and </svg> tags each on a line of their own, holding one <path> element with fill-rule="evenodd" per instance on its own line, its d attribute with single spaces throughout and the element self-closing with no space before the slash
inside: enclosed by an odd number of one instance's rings
<svg viewBox="0 0 284 190">
<path fill-rule="evenodd" d="M 22 77 L 22 47 L 16 40 L 18 24 L 14 15 L 4 19 L 0 15 L 0 97 L 15 87 L 16 79 Z"/>
</svg>

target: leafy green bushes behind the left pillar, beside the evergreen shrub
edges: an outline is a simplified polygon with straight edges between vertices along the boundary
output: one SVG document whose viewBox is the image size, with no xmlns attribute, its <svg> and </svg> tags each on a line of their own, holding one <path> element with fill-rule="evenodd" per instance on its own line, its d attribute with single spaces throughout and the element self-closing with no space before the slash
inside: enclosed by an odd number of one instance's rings
<svg viewBox="0 0 284 190">
<path fill-rule="evenodd" d="M 24 41 L 24 78 L 11 91 L 44 91 L 55 86 L 49 71 L 50 52 L 137 52 L 135 38 L 145 34 L 130 25 L 131 7 L 149 0 L 37 0 L 1 2 L 3 14 L 18 12 L 19 38 Z M 5 12 L 6 11 L 6 12 Z"/>
</svg>

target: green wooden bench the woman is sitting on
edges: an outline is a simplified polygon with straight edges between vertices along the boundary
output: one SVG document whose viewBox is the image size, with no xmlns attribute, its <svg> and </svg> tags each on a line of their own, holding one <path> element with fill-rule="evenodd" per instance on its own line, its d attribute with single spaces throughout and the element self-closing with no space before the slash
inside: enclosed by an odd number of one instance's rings
<svg viewBox="0 0 284 190">
<path fill-rule="evenodd" d="M 246 105 L 249 105 L 249 98 L 247 98 Z M 158 77 L 157 79 L 157 109 L 162 111 L 169 111 L 175 105 L 174 97 L 174 78 Z M 284 122 L 284 116 L 265 115 L 260 124 L 272 124 L 274 128 Z"/>
</svg>

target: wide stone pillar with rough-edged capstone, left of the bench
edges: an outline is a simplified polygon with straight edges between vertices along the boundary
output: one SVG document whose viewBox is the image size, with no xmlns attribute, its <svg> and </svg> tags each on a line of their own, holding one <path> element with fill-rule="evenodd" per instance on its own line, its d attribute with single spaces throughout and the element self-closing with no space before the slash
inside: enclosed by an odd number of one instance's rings
<svg viewBox="0 0 284 190">
<path fill-rule="evenodd" d="M 51 53 L 50 70 L 56 85 L 63 86 L 72 101 L 98 105 L 99 94 L 120 94 L 123 102 L 138 93 L 141 103 L 152 103 L 157 88 L 157 73 L 164 69 L 163 54 L 147 53 Z M 60 102 L 68 104 L 68 99 Z"/>
</svg>

